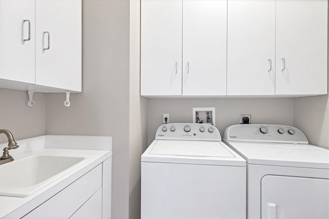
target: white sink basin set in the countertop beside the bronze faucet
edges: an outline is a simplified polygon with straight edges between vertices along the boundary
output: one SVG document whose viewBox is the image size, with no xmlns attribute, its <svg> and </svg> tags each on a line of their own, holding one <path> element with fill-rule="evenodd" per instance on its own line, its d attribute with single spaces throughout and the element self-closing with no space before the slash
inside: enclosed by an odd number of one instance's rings
<svg viewBox="0 0 329 219">
<path fill-rule="evenodd" d="M 29 156 L 0 166 L 0 195 L 27 197 L 65 173 L 84 157 Z"/>
</svg>

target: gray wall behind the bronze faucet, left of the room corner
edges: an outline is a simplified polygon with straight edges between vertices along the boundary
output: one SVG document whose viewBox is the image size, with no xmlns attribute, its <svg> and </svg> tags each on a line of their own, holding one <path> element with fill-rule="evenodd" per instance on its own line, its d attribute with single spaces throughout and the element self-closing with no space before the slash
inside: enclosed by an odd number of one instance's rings
<svg viewBox="0 0 329 219">
<path fill-rule="evenodd" d="M 0 129 L 9 130 L 15 140 L 44 135 L 46 95 L 34 93 L 33 100 L 35 106 L 30 107 L 27 92 L 0 88 Z M 7 137 L 1 134 L 0 143 L 6 141 Z"/>
</svg>

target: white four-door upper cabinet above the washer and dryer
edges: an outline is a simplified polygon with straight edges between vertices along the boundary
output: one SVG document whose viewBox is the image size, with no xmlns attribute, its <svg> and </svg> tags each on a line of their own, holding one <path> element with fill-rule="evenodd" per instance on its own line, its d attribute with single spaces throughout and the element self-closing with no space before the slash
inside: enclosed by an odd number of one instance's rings
<svg viewBox="0 0 329 219">
<path fill-rule="evenodd" d="M 142 0 L 141 95 L 327 94 L 327 19 L 327 0 Z"/>
</svg>

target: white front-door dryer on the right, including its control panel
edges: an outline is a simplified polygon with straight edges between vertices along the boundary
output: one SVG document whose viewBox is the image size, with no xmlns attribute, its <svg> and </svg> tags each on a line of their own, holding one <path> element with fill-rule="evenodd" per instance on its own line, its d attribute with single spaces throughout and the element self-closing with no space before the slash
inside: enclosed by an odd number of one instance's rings
<svg viewBox="0 0 329 219">
<path fill-rule="evenodd" d="M 247 161 L 247 218 L 329 218 L 329 151 L 286 125 L 227 127 Z"/>
</svg>

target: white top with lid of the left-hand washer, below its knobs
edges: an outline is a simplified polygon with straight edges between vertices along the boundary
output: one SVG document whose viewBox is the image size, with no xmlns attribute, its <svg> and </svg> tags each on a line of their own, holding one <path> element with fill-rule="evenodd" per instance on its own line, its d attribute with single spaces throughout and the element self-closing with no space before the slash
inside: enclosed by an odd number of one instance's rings
<svg viewBox="0 0 329 219">
<path fill-rule="evenodd" d="M 246 166 L 246 161 L 222 141 L 154 140 L 141 161 Z"/>
</svg>

